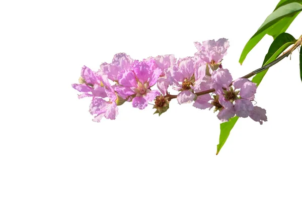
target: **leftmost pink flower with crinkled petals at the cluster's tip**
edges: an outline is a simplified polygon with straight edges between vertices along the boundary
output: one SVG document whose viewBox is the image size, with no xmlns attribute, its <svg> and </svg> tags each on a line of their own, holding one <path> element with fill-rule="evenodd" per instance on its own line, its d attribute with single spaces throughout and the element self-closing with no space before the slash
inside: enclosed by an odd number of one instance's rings
<svg viewBox="0 0 302 201">
<path fill-rule="evenodd" d="M 92 71 L 90 68 L 86 66 L 82 67 L 79 81 L 80 84 L 71 85 L 74 89 L 84 92 L 78 95 L 79 98 L 86 96 L 107 97 L 105 88 L 101 86 L 102 77 L 96 75 L 96 72 Z"/>
</svg>

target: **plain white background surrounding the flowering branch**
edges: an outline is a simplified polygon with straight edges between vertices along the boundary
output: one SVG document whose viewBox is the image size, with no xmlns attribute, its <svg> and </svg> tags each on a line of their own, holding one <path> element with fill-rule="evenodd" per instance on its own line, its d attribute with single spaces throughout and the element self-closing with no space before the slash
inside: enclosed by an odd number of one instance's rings
<svg viewBox="0 0 302 201">
<path fill-rule="evenodd" d="M 0 200 L 301 200 L 302 83 L 298 52 L 260 84 L 262 126 L 240 119 L 216 156 L 219 120 L 174 99 L 119 107 L 92 122 L 78 99 L 81 67 L 113 55 L 193 55 L 194 41 L 228 38 L 234 78 L 262 65 L 266 36 L 249 38 L 278 1 L 3 1 L 0 4 Z M 287 30 L 301 33 L 302 14 Z"/>
</svg>

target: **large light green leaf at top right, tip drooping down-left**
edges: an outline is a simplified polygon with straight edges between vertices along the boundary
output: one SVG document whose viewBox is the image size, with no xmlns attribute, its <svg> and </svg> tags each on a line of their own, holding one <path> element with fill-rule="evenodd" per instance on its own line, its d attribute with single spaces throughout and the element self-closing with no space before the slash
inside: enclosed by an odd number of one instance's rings
<svg viewBox="0 0 302 201">
<path fill-rule="evenodd" d="M 266 34 L 276 38 L 276 36 L 278 36 L 280 33 L 286 31 L 290 23 L 300 13 L 300 11 L 302 11 L 302 5 L 294 2 L 281 6 L 270 14 L 254 36 L 252 36 L 252 38 L 245 45 L 239 59 L 240 64 L 243 63 L 248 53 Z"/>
</svg>

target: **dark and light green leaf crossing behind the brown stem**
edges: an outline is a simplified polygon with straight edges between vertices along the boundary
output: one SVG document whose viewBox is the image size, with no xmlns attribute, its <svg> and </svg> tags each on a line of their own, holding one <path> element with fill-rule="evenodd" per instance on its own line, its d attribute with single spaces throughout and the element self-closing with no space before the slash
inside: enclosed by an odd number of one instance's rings
<svg viewBox="0 0 302 201">
<path fill-rule="evenodd" d="M 262 66 L 265 66 L 269 64 L 270 62 L 274 61 L 278 56 L 284 52 L 286 48 L 288 48 L 290 45 L 294 44 L 296 42 L 296 39 L 288 34 L 288 33 L 282 33 L 280 34 L 270 45 L 267 54 L 265 55 L 264 61 Z M 257 85 L 260 84 L 262 81 L 264 75 L 266 74 L 267 70 L 258 73 L 253 77 L 252 82 L 256 83 Z"/>
</svg>

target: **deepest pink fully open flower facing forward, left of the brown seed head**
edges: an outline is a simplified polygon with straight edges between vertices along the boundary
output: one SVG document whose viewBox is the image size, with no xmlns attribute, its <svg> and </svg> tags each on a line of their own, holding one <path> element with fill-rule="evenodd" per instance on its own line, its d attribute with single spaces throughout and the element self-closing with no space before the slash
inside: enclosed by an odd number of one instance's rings
<svg viewBox="0 0 302 201">
<path fill-rule="evenodd" d="M 132 69 L 122 71 L 118 76 L 115 90 L 124 96 L 132 96 L 132 106 L 140 110 L 147 107 L 148 102 L 160 95 L 158 90 L 151 90 L 162 70 L 155 67 L 155 60 L 147 62 L 134 61 Z"/>
</svg>

